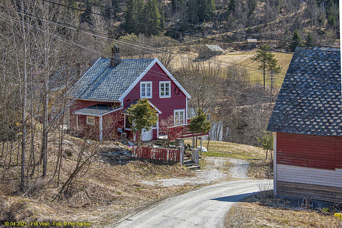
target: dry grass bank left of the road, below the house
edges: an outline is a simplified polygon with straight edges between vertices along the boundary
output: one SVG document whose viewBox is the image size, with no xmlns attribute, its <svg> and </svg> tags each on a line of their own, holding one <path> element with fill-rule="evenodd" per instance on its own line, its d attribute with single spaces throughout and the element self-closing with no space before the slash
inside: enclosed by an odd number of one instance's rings
<svg viewBox="0 0 342 228">
<path fill-rule="evenodd" d="M 60 199 L 52 201 L 74 169 L 77 147 L 82 141 L 71 136 L 68 136 L 67 140 L 74 145 L 68 145 L 71 155 L 63 157 L 59 186 L 56 179 L 51 177 L 51 157 L 48 177 L 35 177 L 30 180 L 27 196 L 22 196 L 17 189 L 20 167 L 11 166 L 6 172 L 6 179 L 0 181 L 0 227 L 3 221 L 79 221 L 91 222 L 92 227 L 106 227 L 154 202 L 195 188 L 190 185 L 150 186 L 141 182 L 195 175 L 180 163 L 139 159 L 119 164 L 96 159 L 88 172 L 83 170 L 78 174 Z M 92 141 L 89 141 L 89 144 L 91 143 Z M 104 148 L 107 146 L 103 145 Z M 50 145 L 50 148 L 52 147 L 53 145 Z M 0 160 L 0 163 L 3 161 Z"/>
</svg>

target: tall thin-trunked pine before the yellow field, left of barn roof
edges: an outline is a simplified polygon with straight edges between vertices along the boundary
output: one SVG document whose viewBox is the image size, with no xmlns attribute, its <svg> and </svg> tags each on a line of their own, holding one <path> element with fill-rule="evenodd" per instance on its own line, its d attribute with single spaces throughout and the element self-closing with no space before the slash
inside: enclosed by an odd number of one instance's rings
<svg viewBox="0 0 342 228">
<path fill-rule="evenodd" d="M 268 44 L 264 44 L 261 46 L 264 49 L 270 49 L 271 47 Z M 265 73 L 266 70 L 273 72 L 273 73 L 280 73 L 281 72 L 281 67 L 278 65 L 277 62 L 278 60 L 274 58 L 274 54 L 271 53 L 271 51 L 264 50 L 264 49 L 259 49 L 257 51 L 257 54 L 255 54 L 251 59 L 253 61 L 257 61 L 260 63 L 258 68 L 263 71 L 264 73 L 264 90 L 265 90 Z M 272 73 L 272 75 L 273 75 Z M 272 76 L 271 76 L 271 82 L 272 82 Z M 272 91 L 272 84 L 271 84 L 271 91 Z"/>
</svg>

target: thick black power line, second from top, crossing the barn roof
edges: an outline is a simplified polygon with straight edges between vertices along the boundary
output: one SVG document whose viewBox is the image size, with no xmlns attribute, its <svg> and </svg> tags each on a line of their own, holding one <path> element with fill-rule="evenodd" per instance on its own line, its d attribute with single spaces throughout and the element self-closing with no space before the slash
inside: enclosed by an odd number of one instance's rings
<svg viewBox="0 0 342 228">
<path fill-rule="evenodd" d="M 174 30 L 171 30 L 171 29 L 160 28 L 160 27 L 156 27 L 156 26 L 152 26 L 152 25 L 146 25 L 146 24 L 142 24 L 142 23 L 138 23 L 138 22 L 132 22 L 132 21 L 128 21 L 128 20 L 125 20 L 125 19 L 117 18 L 117 17 L 111 17 L 111 16 L 99 14 L 99 13 L 90 12 L 90 11 L 87 11 L 87 10 L 82 10 L 82 9 L 75 8 L 75 7 L 72 7 L 72 6 L 68 6 L 68 5 L 64 5 L 64 4 L 60 4 L 60 3 L 56 3 L 56 2 L 51 2 L 51 1 L 48 1 L 48 0 L 43 0 L 43 1 L 50 2 L 50 3 L 56 4 L 56 5 L 65 6 L 65 7 L 70 8 L 70 9 L 75 9 L 75 10 L 79 10 L 79 11 L 83 11 L 83 12 L 88 12 L 88 13 L 92 13 L 92 14 L 96 14 L 96 15 L 100 15 L 100 16 L 105 16 L 105 17 L 117 19 L 117 20 L 120 20 L 120 21 L 130 22 L 130 23 L 134 23 L 134 24 L 138 24 L 138 25 L 148 26 L 148 27 L 152 27 L 152 28 L 157 28 L 157 29 L 161 29 L 161 30 L 175 32 L 175 33 L 180 33 L 180 34 L 183 34 L 183 35 L 194 36 L 194 37 L 199 37 L 199 38 L 208 39 L 208 40 L 214 40 L 214 41 L 220 41 L 220 42 L 230 43 L 230 44 L 239 45 L 239 46 L 252 47 L 252 46 L 249 46 L 249 45 L 246 45 L 246 44 L 239 44 L 239 43 L 233 43 L 233 42 L 224 41 L 224 40 L 217 40 L 217 39 L 208 38 L 208 37 L 201 37 L 201 36 L 198 36 L 198 35 L 188 34 L 188 33 L 185 33 L 185 32 L 179 32 L 179 31 L 174 31 Z M 314 56 L 309 56 L 309 55 L 301 55 L 301 54 L 292 54 L 292 53 L 289 53 L 289 52 L 277 51 L 277 50 L 260 48 L 260 47 L 253 47 L 253 48 L 257 48 L 257 49 L 261 49 L 261 50 L 267 50 L 267 51 L 274 51 L 274 52 L 279 52 L 279 53 L 284 53 L 284 54 L 290 54 L 290 55 L 300 55 L 300 56 L 304 56 L 304 57 L 318 58 L 318 59 L 323 59 L 323 60 L 328 60 L 328 61 L 341 62 L 341 61 L 337 61 L 337 60 L 333 60 L 333 59 L 328 59 L 328 58 L 320 58 L 320 57 L 314 57 Z"/>
</svg>

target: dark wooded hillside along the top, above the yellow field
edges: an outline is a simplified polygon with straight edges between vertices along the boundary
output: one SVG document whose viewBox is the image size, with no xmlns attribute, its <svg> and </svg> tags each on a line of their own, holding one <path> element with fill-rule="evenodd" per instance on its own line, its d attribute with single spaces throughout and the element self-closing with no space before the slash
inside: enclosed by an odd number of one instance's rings
<svg viewBox="0 0 342 228">
<path fill-rule="evenodd" d="M 83 10 L 104 15 L 104 30 L 117 36 L 125 33 L 136 35 L 142 33 L 165 34 L 180 41 L 197 39 L 156 28 L 159 27 L 205 37 L 216 35 L 216 38 L 227 41 L 245 41 L 245 38 L 253 37 L 189 25 L 195 24 L 287 40 L 291 40 L 293 31 L 298 30 L 302 42 L 326 45 L 340 37 L 339 1 L 333 0 L 100 0 L 91 2 L 93 4 L 85 3 L 83 0 L 77 3 L 72 1 Z M 91 27 L 96 26 L 91 22 L 89 12 L 83 12 L 80 19 L 81 23 L 87 23 Z M 221 36 L 217 36 L 220 34 Z M 286 48 L 286 43 L 281 44 Z"/>
</svg>

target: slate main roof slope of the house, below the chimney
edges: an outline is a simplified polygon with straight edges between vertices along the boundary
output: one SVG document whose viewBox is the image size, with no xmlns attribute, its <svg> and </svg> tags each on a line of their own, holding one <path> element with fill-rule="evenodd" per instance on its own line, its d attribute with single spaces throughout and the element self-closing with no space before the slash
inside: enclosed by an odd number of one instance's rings
<svg viewBox="0 0 342 228">
<path fill-rule="evenodd" d="M 109 58 L 100 58 L 75 84 L 72 97 L 79 99 L 119 100 L 154 59 L 121 59 L 115 67 Z"/>
</svg>

